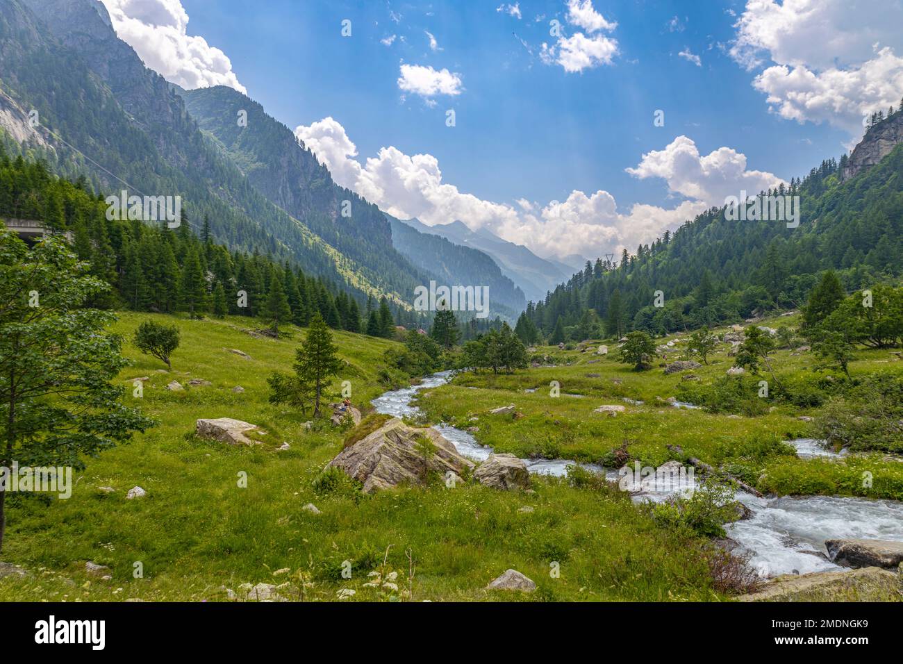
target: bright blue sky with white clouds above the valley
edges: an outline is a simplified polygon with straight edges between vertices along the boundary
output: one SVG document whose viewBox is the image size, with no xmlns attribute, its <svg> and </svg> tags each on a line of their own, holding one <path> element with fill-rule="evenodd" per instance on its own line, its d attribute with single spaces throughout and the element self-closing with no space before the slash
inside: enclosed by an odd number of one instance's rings
<svg viewBox="0 0 903 664">
<path fill-rule="evenodd" d="M 178 5 L 104 2 L 152 24 L 166 20 L 147 6 Z M 739 193 L 740 185 L 805 175 L 858 138 L 857 104 L 880 108 L 903 96 L 897 57 L 903 49 L 893 35 L 899 31 L 857 25 L 844 16 L 844 3 L 819 2 L 827 9 L 813 9 L 815 0 L 761 0 L 749 7 L 734 0 L 182 0 L 190 22 L 182 19 L 178 29 L 222 51 L 230 80 L 287 126 L 307 127 L 299 136 L 336 179 L 383 209 L 427 223 L 460 217 L 541 255 L 593 257 L 603 247 L 633 249 L 638 239 L 654 239 L 682 213 Z M 135 14 L 135 4 L 144 4 L 144 15 Z M 899 10 L 894 0 L 885 5 Z M 154 66 L 146 51 L 159 47 L 140 43 L 141 35 L 120 29 L 125 23 L 111 14 L 120 36 Z M 346 19 L 349 37 L 341 33 Z M 560 36 L 550 34 L 552 21 L 560 24 Z M 835 40 L 817 32 L 825 24 Z M 583 43 L 608 51 L 569 70 L 559 40 L 577 33 Z M 799 45 L 813 37 L 823 43 Z M 882 58 L 874 43 L 891 52 Z M 435 74 L 440 91 L 401 89 L 405 65 Z M 167 66 L 172 69 L 156 68 Z M 161 73 L 185 84 L 178 68 Z M 844 89 L 831 89 L 839 75 L 850 80 L 843 79 Z M 200 76 L 207 84 L 222 72 Z M 856 108 L 837 111 L 826 99 L 855 95 L 869 76 L 884 85 L 873 98 L 853 99 Z M 797 103 L 801 95 L 808 96 L 805 103 Z M 449 109 L 452 127 L 446 126 Z M 658 109 L 664 126 L 653 122 Z M 334 124 L 315 124 L 327 117 Z M 356 145 L 358 164 L 382 148 L 395 152 L 362 173 L 339 154 L 344 150 L 337 141 Z M 730 152 L 713 154 L 719 149 Z M 686 174 L 699 164 L 694 151 L 703 162 L 712 154 L 695 182 Z M 416 154 L 430 155 L 430 164 L 414 164 Z M 745 155 L 745 164 L 738 155 Z M 389 169 L 397 182 L 386 179 Z M 436 169 L 441 180 L 431 174 Z M 392 192 L 399 188 L 417 191 Z M 569 199 L 575 191 L 586 200 Z M 594 192 L 605 195 L 593 198 Z M 682 202 L 692 204 L 679 208 Z M 635 204 L 650 207 L 638 217 L 631 213 Z"/>
</svg>

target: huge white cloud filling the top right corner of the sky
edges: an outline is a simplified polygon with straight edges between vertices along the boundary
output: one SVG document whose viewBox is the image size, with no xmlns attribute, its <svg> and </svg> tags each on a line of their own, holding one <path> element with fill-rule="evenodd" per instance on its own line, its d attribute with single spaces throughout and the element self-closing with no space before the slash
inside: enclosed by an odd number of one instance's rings
<svg viewBox="0 0 903 664">
<path fill-rule="evenodd" d="M 858 138 L 862 117 L 903 96 L 903 5 L 748 0 L 730 53 L 780 117 L 828 122 Z M 876 12 L 880 21 L 876 21 Z"/>
</svg>

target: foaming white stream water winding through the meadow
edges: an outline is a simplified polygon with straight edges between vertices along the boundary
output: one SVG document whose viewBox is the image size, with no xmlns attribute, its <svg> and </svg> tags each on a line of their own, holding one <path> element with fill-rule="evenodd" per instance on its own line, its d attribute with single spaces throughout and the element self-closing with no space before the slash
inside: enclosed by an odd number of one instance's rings
<svg viewBox="0 0 903 664">
<path fill-rule="evenodd" d="M 447 383 L 452 371 L 440 371 L 424 379 L 420 385 L 396 389 L 373 399 L 377 413 L 396 417 L 417 416 L 420 410 L 411 405 L 417 391 L 436 388 Z M 445 424 L 434 426 L 454 444 L 459 454 L 474 461 L 484 461 L 492 448 L 479 444 L 461 429 Z M 801 458 L 838 456 L 824 448 L 820 441 L 801 438 L 790 441 Z M 562 476 L 568 459 L 524 459 L 530 472 Z M 618 472 L 600 465 L 582 467 L 603 472 L 609 480 L 618 480 Z M 635 500 L 664 500 L 666 492 L 645 492 Z M 737 492 L 740 500 L 752 511 L 749 519 L 727 526 L 728 536 L 751 554 L 750 564 L 760 575 L 805 574 L 843 569 L 827 557 L 824 540 L 836 538 L 890 539 L 903 541 L 903 502 L 897 500 L 867 500 L 805 496 L 757 498 L 744 491 Z"/>
</svg>

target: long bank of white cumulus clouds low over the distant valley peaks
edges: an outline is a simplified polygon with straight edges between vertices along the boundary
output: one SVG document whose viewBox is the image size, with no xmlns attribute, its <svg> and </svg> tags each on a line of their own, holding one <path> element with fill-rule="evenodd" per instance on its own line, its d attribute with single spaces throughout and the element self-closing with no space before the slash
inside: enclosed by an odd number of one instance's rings
<svg viewBox="0 0 903 664">
<path fill-rule="evenodd" d="M 675 229 L 722 204 L 729 194 L 738 195 L 742 188 L 758 192 L 780 182 L 770 173 L 748 171 L 746 157 L 730 148 L 701 157 L 693 141 L 681 136 L 665 150 L 643 155 L 636 169 L 628 169 L 640 178 L 663 178 L 672 192 L 687 198 L 674 208 L 637 203 L 619 210 L 614 196 L 604 190 L 573 191 L 565 201 L 546 203 L 521 198 L 509 205 L 482 200 L 445 182 L 432 154 L 405 154 L 388 146 L 361 162 L 357 145 L 332 117 L 298 126 L 295 135 L 330 169 L 336 182 L 389 214 L 415 217 L 430 226 L 461 220 L 470 229 L 489 229 L 543 257 L 633 251 L 665 229 Z"/>
</svg>

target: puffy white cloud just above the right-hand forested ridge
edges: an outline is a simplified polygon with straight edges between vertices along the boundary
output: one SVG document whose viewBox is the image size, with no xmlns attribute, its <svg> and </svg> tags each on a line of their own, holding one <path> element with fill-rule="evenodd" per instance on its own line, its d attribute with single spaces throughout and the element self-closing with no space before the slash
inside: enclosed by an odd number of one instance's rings
<svg viewBox="0 0 903 664">
<path fill-rule="evenodd" d="M 671 192 L 707 206 L 721 206 L 726 197 L 739 196 L 741 189 L 753 194 L 784 182 L 773 173 L 748 171 L 746 155 L 730 147 L 700 156 L 687 136 L 677 136 L 664 150 L 644 154 L 636 168 L 626 171 L 641 180 L 663 178 Z"/>
</svg>

